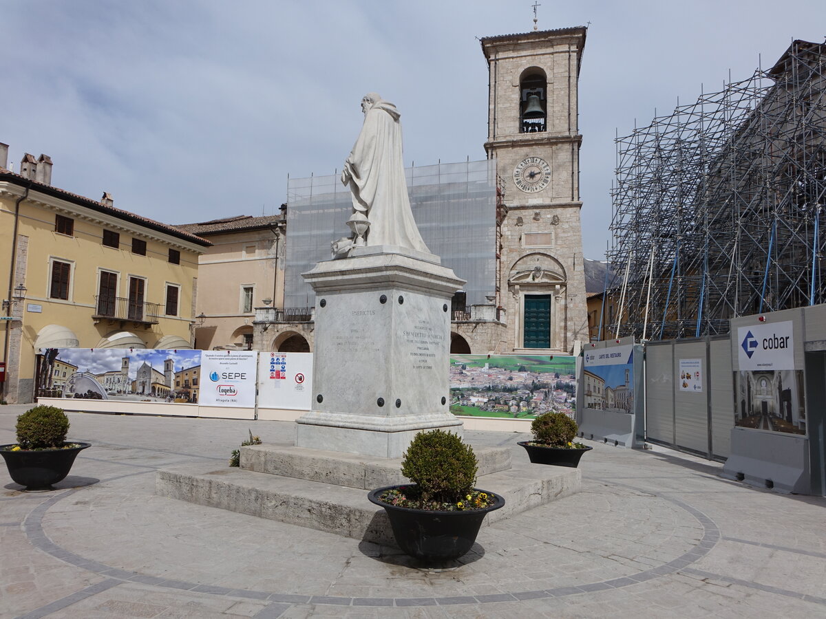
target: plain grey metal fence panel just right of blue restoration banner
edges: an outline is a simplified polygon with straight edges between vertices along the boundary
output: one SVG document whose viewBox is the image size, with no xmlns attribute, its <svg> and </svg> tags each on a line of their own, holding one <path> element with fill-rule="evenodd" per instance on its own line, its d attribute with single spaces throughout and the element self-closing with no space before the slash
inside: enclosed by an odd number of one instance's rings
<svg viewBox="0 0 826 619">
<path fill-rule="evenodd" d="M 674 443 L 674 366 L 672 343 L 645 347 L 645 434 L 653 441 Z"/>
</svg>

